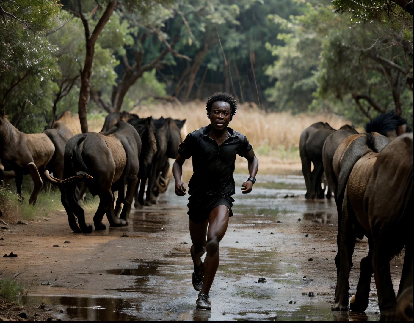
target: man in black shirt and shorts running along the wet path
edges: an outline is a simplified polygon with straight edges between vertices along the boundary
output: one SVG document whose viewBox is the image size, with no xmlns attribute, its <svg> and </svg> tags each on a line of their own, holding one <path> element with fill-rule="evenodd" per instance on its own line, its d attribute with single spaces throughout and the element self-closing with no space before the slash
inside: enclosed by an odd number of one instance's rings
<svg viewBox="0 0 414 323">
<path fill-rule="evenodd" d="M 219 244 L 233 215 L 231 195 L 235 194 L 236 187 L 233 179 L 236 154 L 248 160 L 250 177 L 243 183 L 243 193 L 251 192 L 259 167 L 246 136 L 228 127 L 237 110 L 234 97 L 227 93 L 214 94 L 207 100 L 206 110 L 210 124 L 187 135 L 173 165 L 176 195 L 183 196 L 186 193 L 181 182 L 183 164 L 193 156 L 187 214 L 193 242 L 193 286 L 200 291 L 196 302 L 199 309 L 211 309 L 209 291 L 219 266 Z M 206 251 L 203 264 L 201 256 Z"/>
</svg>

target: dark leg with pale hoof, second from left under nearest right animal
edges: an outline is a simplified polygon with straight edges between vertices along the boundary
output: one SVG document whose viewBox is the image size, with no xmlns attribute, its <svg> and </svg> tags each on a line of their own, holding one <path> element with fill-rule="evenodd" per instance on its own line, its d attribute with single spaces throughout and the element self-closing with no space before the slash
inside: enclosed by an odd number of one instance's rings
<svg viewBox="0 0 414 323">
<path fill-rule="evenodd" d="M 354 312 L 362 313 L 368 307 L 369 292 L 371 290 L 372 278 L 372 249 L 373 241 L 371 235 L 368 236 L 368 255 L 361 259 L 361 273 L 359 274 L 356 293 L 349 300 L 349 309 Z"/>
</svg>

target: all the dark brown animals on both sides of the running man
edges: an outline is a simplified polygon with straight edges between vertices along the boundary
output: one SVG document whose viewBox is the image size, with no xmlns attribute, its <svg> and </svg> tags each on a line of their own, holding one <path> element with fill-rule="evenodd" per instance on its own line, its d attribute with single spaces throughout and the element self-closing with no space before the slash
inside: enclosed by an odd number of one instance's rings
<svg viewBox="0 0 414 323">
<path fill-rule="evenodd" d="M 31 204 L 36 202 L 44 181 L 58 185 L 75 233 L 92 232 L 79 204 L 87 188 L 100 198 L 94 215 L 95 230 L 106 229 L 102 223 L 104 214 L 110 226 L 128 225 L 134 195 L 134 206 L 140 208 L 156 203 L 157 196 L 166 191 L 168 158 L 177 157 L 184 123 L 185 120 L 162 117 L 142 119 L 121 112 L 108 114 L 99 133 L 74 134 L 59 118 L 52 129 L 25 134 L 0 112 L 0 159 L 4 167 L 0 180 L 15 178 L 17 193 L 23 198 L 23 176 L 30 174 L 34 182 Z M 412 321 L 413 135 L 405 133 L 406 123 L 400 116 L 388 113 L 371 120 L 366 133 L 358 133 L 348 125 L 335 130 L 319 122 L 301 134 L 306 199 L 324 198 L 326 190 L 326 197 L 331 198 L 333 193 L 337 204 L 333 310 L 365 311 L 374 274 L 381 319 Z M 327 189 L 321 186 L 323 173 Z M 369 251 L 361 260 L 356 294 L 349 300 L 352 254 L 356 238 L 364 235 Z M 390 259 L 404 247 L 396 298 Z"/>
</svg>

